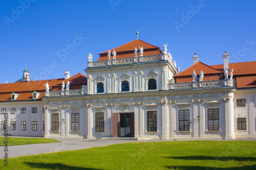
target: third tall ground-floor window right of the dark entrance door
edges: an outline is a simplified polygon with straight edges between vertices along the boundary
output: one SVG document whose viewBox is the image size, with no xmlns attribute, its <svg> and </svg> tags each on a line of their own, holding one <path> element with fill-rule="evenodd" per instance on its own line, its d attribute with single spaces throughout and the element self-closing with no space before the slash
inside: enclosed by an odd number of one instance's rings
<svg viewBox="0 0 256 170">
<path fill-rule="evenodd" d="M 208 109 L 208 131 L 219 130 L 219 109 Z"/>
</svg>

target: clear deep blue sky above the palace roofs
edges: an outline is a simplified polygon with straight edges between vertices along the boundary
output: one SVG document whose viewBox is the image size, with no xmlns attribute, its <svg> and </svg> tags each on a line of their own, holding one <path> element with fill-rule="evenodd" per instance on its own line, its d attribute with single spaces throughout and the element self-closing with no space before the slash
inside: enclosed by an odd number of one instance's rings
<svg viewBox="0 0 256 170">
<path fill-rule="evenodd" d="M 181 70 L 199 61 L 256 59 L 256 1 L 0 1 L 0 83 L 86 74 L 88 54 L 139 39 L 168 51 Z M 77 38 L 78 37 L 78 38 Z M 66 51 L 65 51 L 66 49 Z M 67 50 L 69 49 L 69 50 Z M 236 70 L 234 70 L 236 71 Z"/>
</svg>

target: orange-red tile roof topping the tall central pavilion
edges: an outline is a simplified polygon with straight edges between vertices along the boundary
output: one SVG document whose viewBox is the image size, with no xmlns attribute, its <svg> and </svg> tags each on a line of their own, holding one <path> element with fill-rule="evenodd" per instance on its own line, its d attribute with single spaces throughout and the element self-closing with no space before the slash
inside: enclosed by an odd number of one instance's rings
<svg viewBox="0 0 256 170">
<path fill-rule="evenodd" d="M 110 58 L 113 59 L 112 53 L 114 50 L 116 52 L 116 59 L 134 57 L 135 56 L 135 54 L 134 54 L 135 47 L 137 47 L 138 56 L 140 56 L 139 46 L 140 47 L 143 46 L 143 56 L 158 55 L 158 54 L 163 53 L 158 46 L 149 44 L 140 39 L 136 39 L 136 40 L 133 40 L 131 42 L 128 42 L 126 44 L 123 44 L 121 46 L 111 49 L 110 50 L 110 52 L 111 52 Z M 109 53 L 109 51 L 99 53 L 99 58 L 97 61 L 108 60 L 108 53 Z"/>
</svg>

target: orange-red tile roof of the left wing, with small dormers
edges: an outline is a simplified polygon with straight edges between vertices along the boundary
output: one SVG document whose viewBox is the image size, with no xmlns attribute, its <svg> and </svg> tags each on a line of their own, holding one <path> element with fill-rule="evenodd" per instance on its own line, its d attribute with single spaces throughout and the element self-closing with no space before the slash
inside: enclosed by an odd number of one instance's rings
<svg viewBox="0 0 256 170">
<path fill-rule="evenodd" d="M 15 101 L 32 100 L 33 92 L 39 92 L 37 99 L 44 98 L 46 82 L 49 84 L 50 90 L 61 90 L 62 81 L 67 84 L 70 81 L 70 89 L 81 89 L 82 85 L 87 84 L 87 76 L 79 73 L 69 79 L 52 79 L 52 80 L 38 80 L 29 82 L 5 83 L 0 84 L 0 101 L 11 101 L 11 94 L 14 92 L 19 94 Z"/>
</svg>

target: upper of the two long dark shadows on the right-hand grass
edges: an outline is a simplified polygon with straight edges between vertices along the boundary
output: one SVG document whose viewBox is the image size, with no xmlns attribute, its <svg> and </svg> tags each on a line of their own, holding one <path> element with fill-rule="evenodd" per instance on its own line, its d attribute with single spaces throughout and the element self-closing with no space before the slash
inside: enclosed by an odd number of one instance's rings
<svg viewBox="0 0 256 170">
<path fill-rule="evenodd" d="M 186 159 L 186 160 L 235 160 L 235 161 L 256 161 L 253 157 L 212 157 L 212 156 L 178 156 L 178 157 L 165 157 L 170 159 Z"/>
</svg>

